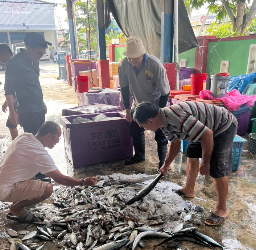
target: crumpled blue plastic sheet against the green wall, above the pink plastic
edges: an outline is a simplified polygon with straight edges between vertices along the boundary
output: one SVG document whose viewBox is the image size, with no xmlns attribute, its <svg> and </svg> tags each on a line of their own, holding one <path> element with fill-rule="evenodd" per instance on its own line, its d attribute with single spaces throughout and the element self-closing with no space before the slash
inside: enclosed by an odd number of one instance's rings
<svg viewBox="0 0 256 250">
<path fill-rule="evenodd" d="M 240 93 L 243 92 L 244 87 L 249 83 L 256 82 L 256 72 L 249 75 L 231 76 L 228 82 L 228 92 L 237 89 Z"/>
</svg>

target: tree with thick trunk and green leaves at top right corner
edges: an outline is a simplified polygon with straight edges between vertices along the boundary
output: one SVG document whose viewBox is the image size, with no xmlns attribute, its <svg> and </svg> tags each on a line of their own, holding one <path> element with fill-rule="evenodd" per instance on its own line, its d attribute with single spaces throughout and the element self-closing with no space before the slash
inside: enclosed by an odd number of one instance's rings
<svg viewBox="0 0 256 250">
<path fill-rule="evenodd" d="M 186 0 L 191 9 L 199 9 L 205 4 L 211 13 L 216 13 L 216 21 L 221 22 L 228 16 L 235 34 L 245 34 L 256 14 L 256 0 Z"/>
</svg>

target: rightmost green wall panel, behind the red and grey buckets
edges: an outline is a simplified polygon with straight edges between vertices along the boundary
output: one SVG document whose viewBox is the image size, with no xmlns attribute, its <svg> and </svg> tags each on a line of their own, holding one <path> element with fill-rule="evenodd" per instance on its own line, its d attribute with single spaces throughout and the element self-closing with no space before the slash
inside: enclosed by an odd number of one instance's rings
<svg viewBox="0 0 256 250">
<path fill-rule="evenodd" d="M 217 42 L 209 42 L 209 47 L 215 46 Z M 230 76 L 246 74 L 249 57 L 249 48 L 251 44 L 256 44 L 256 39 L 220 41 L 216 45 L 214 62 L 211 73 L 213 50 L 208 48 L 207 74 L 218 74 L 220 72 L 220 61 L 229 61 L 228 72 Z M 219 58 L 220 57 L 220 58 Z"/>
</svg>

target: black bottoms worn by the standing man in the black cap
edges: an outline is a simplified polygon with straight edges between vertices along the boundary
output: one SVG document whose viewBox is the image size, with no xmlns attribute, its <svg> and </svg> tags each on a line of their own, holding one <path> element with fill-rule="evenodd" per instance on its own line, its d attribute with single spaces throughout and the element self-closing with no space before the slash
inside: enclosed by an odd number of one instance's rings
<svg viewBox="0 0 256 250">
<path fill-rule="evenodd" d="M 18 114 L 20 126 L 24 132 L 32 133 L 34 136 L 37 130 L 45 122 L 45 109 L 39 112 Z"/>
</svg>

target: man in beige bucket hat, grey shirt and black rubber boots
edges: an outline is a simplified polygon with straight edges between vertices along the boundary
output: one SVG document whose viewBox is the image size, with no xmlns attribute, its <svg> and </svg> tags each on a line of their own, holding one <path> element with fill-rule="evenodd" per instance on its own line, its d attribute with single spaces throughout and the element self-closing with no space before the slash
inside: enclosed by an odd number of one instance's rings
<svg viewBox="0 0 256 250">
<path fill-rule="evenodd" d="M 118 68 L 119 85 L 126 111 L 125 118 L 130 122 L 130 135 L 133 138 L 135 155 L 125 161 L 125 164 L 134 164 L 145 161 L 145 135 L 144 128 L 140 128 L 132 120 L 136 106 L 142 101 L 149 101 L 160 108 L 166 107 L 170 86 L 162 63 L 153 55 L 146 54 L 143 42 L 139 37 L 129 37 L 126 41 L 126 57 L 120 62 Z M 133 97 L 130 108 L 129 88 Z M 164 164 L 168 139 L 161 129 L 156 130 L 157 153 L 159 157 L 158 170 Z"/>
</svg>

